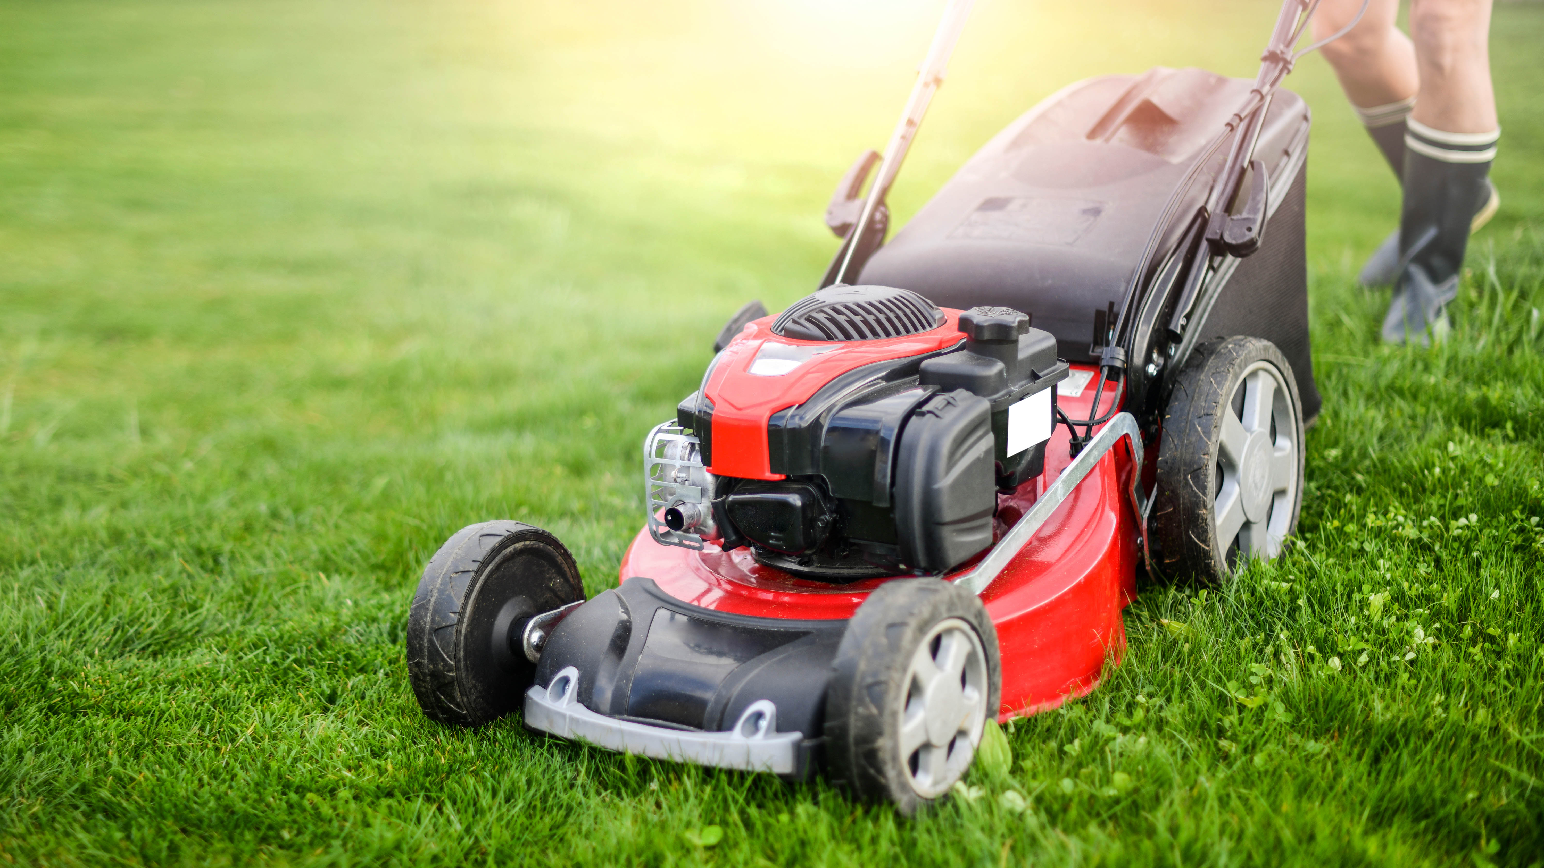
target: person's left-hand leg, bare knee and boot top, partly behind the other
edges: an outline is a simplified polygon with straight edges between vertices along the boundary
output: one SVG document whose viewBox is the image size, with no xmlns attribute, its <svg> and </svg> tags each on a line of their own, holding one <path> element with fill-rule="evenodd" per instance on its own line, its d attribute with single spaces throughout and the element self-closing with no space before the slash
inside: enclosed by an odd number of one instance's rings
<svg viewBox="0 0 1544 868">
<path fill-rule="evenodd" d="M 1312 39 L 1328 39 L 1356 19 L 1362 0 L 1323 0 L 1314 14 Z M 1368 0 L 1351 32 L 1323 48 L 1351 108 L 1383 151 L 1394 175 L 1405 168 L 1405 117 L 1420 79 L 1416 49 L 1396 26 L 1399 0 Z"/>
</svg>

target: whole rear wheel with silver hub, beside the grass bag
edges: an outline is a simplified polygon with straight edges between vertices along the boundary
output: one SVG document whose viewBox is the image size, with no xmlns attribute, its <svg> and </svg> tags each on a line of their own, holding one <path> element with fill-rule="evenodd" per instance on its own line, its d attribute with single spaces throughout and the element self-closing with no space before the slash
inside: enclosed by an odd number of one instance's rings
<svg viewBox="0 0 1544 868">
<path fill-rule="evenodd" d="M 1303 408 L 1275 344 L 1195 348 L 1164 411 L 1156 497 L 1166 571 L 1220 582 L 1282 553 L 1303 502 Z"/>
</svg>

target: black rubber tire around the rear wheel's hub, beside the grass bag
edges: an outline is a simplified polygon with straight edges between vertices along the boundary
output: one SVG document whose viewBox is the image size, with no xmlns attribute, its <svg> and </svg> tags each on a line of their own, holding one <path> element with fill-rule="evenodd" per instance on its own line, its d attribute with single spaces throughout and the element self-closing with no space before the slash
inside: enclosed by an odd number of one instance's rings
<svg viewBox="0 0 1544 868">
<path fill-rule="evenodd" d="M 1241 394 L 1254 363 L 1274 366 L 1286 383 L 1295 423 L 1297 487 L 1286 522 L 1297 530 L 1303 505 L 1303 400 L 1292 366 L 1265 338 L 1214 338 L 1198 344 L 1173 378 L 1158 446 L 1158 479 L 1150 517 L 1160 570 L 1170 578 L 1215 585 L 1232 576 L 1232 541 L 1218 541 L 1215 497 L 1223 414 Z"/>
</svg>

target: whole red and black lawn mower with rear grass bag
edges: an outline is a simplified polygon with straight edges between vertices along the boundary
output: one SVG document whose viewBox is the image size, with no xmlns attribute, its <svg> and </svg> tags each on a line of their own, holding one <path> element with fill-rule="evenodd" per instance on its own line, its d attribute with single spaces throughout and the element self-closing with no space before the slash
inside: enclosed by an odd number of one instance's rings
<svg viewBox="0 0 1544 868">
<path fill-rule="evenodd" d="M 568 550 L 513 520 L 434 554 L 408 630 L 425 714 L 823 769 L 909 812 L 960 780 L 988 718 L 1099 684 L 1138 570 L 1218 582 L 1282 551 L 1320 402 L 1309 111 L 1278 83 L 1314 2 L 1285 2 L 1252 82 L 1064 88 L 886 242 L 968 8 L 950 3 L 883 154 L 838 184 L 820 289 L 777 317 L 747 304 L 645 437 L 619 587 L 585 599 Z"/>
</svg>

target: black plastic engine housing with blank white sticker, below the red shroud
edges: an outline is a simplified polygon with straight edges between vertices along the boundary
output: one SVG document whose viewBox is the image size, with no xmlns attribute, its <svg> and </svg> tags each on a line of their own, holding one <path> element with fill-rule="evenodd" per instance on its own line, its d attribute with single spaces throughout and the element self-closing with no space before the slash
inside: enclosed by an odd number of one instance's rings
<svg viewBox="0 0 1544 868">
<path fill-rule="evenodd" d="M 838 315 L 866 317 L 868 297 L 877 310 L 897 297 L 866 286 L 821 292 L 840 293 L 840 304 L 821 297 L 823 307 L 789 310 L 818 312 L 829 331 L 858 329 Z M 874 323 L 888 320 L 874 315 L 863 327 Z M 1019 310 L 976 307 L 959 315 L 959 327 L 965 340 L 950 349 L 848 371 L 772 414 L 769 463 L 787 479 L 720 477 L 713 504 L 726 545 L 749 541 L 769 565 L 837 582 L 943 573 L 991 545 L 996 491 L 1044 468 L 1053 386 L 1068 368 L 1056 340 Z M 1027 432 L 1031 415 L 1039 429 Z M 678 420 L 707 431 L 712 408 L 689 395 Z"/>
</svg>

